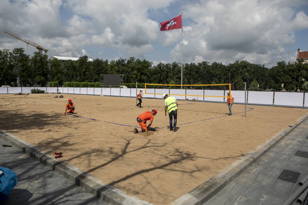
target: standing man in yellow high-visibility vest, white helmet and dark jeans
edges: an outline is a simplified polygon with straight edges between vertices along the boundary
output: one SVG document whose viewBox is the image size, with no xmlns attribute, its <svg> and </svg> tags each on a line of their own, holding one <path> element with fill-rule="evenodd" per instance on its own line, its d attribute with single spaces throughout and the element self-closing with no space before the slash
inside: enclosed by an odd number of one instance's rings
<svg viewBox="0 0 308 205">
<path fill-rule="evenodd" d="M 176 131 L 176 120 L 177 120 L 177 101 L 175 97 L 169 97 L 167 94 L 163 94 L 163 98 L 165 100 L 165 115 L 167 115 L 167 111 L 169 114 L 169 124 L 170 131 Z M 172 127 L 172 116 L 174 117 L 173 127 Z"/>
</svg>

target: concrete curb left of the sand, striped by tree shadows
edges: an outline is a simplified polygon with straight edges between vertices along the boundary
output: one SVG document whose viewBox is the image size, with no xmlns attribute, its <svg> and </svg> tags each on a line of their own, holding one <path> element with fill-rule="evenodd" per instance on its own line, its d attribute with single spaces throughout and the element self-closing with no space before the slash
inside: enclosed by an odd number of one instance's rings
<svg viewBox="0 0 308 205">
<path fill-rule="evenodd" d="M 20 149 L 22 152 L 27 153 L 31 157 L 44 163 L 51 169 L 59 172 L 63 176 L 72 180 L 76 184 L 104 199 L 108 203 L 113 205 L 152 205 L 146 201 L 143 201 L 137 197 L 125 194 L 120 189 L 112 186 L 111 184 L 104 183 L 100 179 L 92 176 L 78 169 L 77 167 L 67 164 L 65 162 L 59 162 L 54 158 L 47 156 L 43 151 L 35 146 L 19 140 L 14 135 L 7 132 L 0 131 L 0 137 L 6 140 L 10 144 Z"/>
</svg>

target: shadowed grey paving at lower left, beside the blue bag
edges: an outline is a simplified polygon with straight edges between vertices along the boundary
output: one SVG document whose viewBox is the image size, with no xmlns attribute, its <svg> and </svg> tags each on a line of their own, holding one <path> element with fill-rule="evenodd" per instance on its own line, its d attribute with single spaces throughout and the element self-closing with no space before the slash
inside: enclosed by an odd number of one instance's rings
<svg viewBox="0 0 308 205">
<path fill-rule="evenodd" d="M 11 145 L 0 139 L 0 145 Z M 0 166 L 10 168 L 18 183 L 3 205 L 109 205 L 19 149 L 0 146 Z"/>
</svg>

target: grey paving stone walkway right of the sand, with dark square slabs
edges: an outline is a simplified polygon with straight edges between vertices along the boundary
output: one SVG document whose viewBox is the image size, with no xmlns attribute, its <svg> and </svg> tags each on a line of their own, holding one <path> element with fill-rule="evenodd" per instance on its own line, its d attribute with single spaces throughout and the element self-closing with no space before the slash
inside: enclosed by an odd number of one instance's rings
<svg viewBox="0 0 308 205">
<path fill-rule="evenodd" d="M 307 159 L 305 120 L 204 205 L 281 205 L 308 174 Z"/>
</svg>

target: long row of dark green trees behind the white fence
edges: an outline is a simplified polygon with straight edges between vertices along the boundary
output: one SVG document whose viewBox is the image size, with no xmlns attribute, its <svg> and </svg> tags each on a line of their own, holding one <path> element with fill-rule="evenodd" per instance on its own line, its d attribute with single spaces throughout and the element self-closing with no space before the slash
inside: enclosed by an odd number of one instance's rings
<svg viewBox="0 0 308 205">
<path fill-rule="evenodd" d="M 23 48 L 0 49 L 0 85 L 46 86 L 57 81 L 100 82 L 101 74 L 124 74 L 127 83 L 181 84 L 181 65 L 178 62 L 159 63 L 120 58 L 88 61 L 82 56 L 77 61 L 62 63 L 58 59 L 48 59 L 46 54 L 34 52 L 27 55 Z M 296 64 L 280 61 L 266 68 L 264 65 L 248 61 L 235 61 L 229 65 L 207 61 L 183 64 L 183 84 L 225 84 L 233 83 L 234 89 L 244 89 L 247 82 L 250 90 L 307 91 L 308 63 L 299 60 Z M 96 84 L 95 84 L 96 85 Z"/>
</svg>

